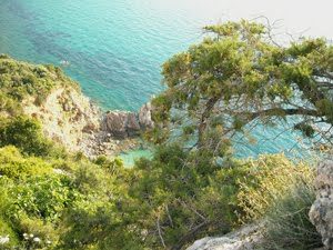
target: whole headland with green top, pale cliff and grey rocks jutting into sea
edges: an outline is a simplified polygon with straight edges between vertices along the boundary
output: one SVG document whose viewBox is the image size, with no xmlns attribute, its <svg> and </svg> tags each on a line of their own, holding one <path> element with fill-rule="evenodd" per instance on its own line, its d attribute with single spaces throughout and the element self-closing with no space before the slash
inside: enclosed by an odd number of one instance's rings
<svg viewBox="0 0 333 250">
<path fill-rule="evenodd" d="M 133 149 L 140 133 L 153 126 L 150 103 L 138 112 L 102 112 L 77 82 L 53 66 L 36 66 L 1 54 L 0 87 L 1 117 L 37 119 L 47 138 L 88 157 Z"/>
</svg>

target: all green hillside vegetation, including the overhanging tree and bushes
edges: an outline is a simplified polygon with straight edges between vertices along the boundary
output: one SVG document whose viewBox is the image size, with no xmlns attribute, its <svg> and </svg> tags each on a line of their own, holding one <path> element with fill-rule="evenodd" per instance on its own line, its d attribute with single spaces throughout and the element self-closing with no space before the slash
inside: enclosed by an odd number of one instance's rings
<svg viewBox="0 0 333 250">
<path fill-rule="evenodd" d="M 175 250 L 246 223 L 266 226 L 258 249 L 321 247 L 307 217 L 311 163 L 235 159 L 233 136 L 286 122 L 322 134 L 327 148 L 332 46 L 279 47 L 248 21 L 205 30 L 201 43 L 165 62 L 168 88 L 153 100 L 155 127 L 144 134 L 153 157 L 131 169 L 47 138 L 44 120 L 27 116 L 23 103 L 43 107 L 52 90 L 77 84 L 58 68 L 0 57 L 1 249 Z"/>
</svg>

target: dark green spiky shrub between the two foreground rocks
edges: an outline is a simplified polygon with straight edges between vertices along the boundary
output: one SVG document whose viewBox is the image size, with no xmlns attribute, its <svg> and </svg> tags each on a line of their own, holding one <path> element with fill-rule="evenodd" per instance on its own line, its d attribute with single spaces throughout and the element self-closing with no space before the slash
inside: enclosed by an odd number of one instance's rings
<svg viewBox="0 0 333 250">
<path fill-rule="evenodd" d="M 315 199 L 311 184 L 299 183 L 271 206 L 266 216 L 265 250 L 313 250 L 322 247 L 321 236 L 309 219 Z"/>
</svg>

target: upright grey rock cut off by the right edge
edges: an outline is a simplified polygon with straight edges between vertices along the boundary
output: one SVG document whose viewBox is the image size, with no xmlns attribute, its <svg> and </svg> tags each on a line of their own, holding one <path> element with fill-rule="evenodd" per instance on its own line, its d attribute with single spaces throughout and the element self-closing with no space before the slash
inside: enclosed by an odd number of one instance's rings
<svg viewBox="0 0 333 250">
<path fill-rule="evenodd" d="M 310 210 L 310 220 L 322 236 L 325 249 L 333 249 L 333 160 L 317 166 L 316 200 Z"/>
</svg>

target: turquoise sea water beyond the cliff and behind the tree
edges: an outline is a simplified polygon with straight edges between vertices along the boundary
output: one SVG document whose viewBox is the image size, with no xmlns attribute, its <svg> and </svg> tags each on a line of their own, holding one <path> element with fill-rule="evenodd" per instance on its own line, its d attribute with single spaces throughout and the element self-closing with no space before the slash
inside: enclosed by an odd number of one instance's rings
<svg viewBox="0 0 333 250">
<path fill-rule="evenodd" d="M 138 110 L 163 89 L 163 61 L 199 41 L 223 11 L 219 0 L 0 0 L 0 53 L 69 61 L 64 71 L 103 109 Z M 259 143 L 240 144 L 240 156 L 299 148 L 297 134 L 280 132 L 256 130 Z"/>
</svg>

